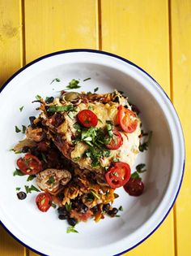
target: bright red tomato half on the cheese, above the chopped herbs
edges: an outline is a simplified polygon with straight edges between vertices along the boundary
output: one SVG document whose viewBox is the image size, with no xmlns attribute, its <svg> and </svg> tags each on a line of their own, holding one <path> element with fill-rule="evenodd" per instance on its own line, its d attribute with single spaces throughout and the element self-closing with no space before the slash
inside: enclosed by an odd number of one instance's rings
<svg viewBox="0 0 191 256">
<path fill-rule="evenodd" d="M 77 116 L 80 124 L 82 124 L 84 127 L 90 128 L 91 126 L 95 127 L 97 125 L 97 115 L 95 115 L 92 111 L 79 111 L 79 114 Z"/>
</svg>

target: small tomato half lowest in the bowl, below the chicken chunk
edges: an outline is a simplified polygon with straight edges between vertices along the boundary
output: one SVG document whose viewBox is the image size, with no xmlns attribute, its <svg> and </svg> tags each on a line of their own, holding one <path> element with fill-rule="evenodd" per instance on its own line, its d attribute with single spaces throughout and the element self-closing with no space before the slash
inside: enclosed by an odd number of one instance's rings
<svg viewBox="0 0 191 256">
<path fill-rule="evenodd" d="M 45 212 L 49 210 L 49 207 L 52 205 L 52 197 L 49 193 L 39 193 L 36 197 L 36 206 L 39 210 Z"/>
</svg>

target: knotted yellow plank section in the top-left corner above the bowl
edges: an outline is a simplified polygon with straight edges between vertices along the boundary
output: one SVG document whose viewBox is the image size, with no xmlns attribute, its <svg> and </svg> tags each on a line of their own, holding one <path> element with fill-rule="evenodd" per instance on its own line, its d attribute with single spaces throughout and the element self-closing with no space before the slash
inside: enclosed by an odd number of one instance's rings
<svg viewBox="0 0 191 256">
<path fill-rule="evenodd" d="M 21 67 L 21 20 L 18 0 L 0 1 L 0 86 Z"/>
</svg>

